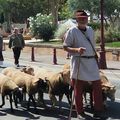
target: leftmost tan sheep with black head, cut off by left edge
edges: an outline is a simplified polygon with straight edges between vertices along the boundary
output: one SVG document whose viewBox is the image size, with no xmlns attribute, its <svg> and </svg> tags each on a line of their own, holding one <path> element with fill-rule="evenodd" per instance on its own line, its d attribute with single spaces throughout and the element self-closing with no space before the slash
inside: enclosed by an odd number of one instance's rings
<svg viewBox="0 0 120 120">
<path fill-rule="evenodd" d="M 4 74 L 0 73 L 0 93 L 2 96 L 2 104 L 0 107 L 2 108 L 5 105 L 5 96 L 8 95 L 10 98 L 10 107 L 11 112 L 13 111 L 12 106 L 12 95 L 14 97 L 15 107 L 17 108 L 17 98 L 21 98 L 21 89 L 12 81 L 12 79 Z"/>
</svg>

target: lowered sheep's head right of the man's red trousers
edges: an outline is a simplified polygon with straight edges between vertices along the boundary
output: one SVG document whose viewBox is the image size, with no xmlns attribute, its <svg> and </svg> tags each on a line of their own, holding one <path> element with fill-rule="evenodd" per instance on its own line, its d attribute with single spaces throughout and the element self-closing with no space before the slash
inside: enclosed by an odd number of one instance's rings
<svg viewBox="0 0 120 120">
<path fill-rule="evenodd" d="M 103 95 L 107 98 L 109 98 L 111 101 L 115 101 L 115 92 L 116 87 L 115 86 L 104 86 L 102 88 Z"/>
</svg>

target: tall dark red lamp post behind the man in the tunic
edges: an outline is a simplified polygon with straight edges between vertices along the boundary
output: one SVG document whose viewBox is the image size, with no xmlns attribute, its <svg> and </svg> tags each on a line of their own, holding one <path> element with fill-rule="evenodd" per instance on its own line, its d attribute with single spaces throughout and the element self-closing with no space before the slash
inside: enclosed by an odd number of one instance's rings
<svg viewBox="0 0 120 120">
<path fill-rule="evenodd" d="M 104 16 L 103 16 L 103 4 L 104 0 L 100 0 L 100 11 L 101 11 L 101 40 L 100 40 L 100 69 L 106 69 L 106 55 L 105 55 L 105 42 L 104 42 Z"/>
</svg>

